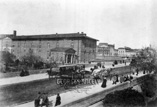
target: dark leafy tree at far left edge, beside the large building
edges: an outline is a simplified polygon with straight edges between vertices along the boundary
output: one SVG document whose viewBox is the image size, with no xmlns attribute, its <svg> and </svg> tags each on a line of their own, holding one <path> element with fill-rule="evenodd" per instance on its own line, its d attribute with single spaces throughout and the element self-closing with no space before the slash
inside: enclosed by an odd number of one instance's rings
<svg viewBox="0 0 157 107">
<path fill-rule="evenodd" d="M 8 51 L 1 52 L 1 62 L 5 65 L 6 70 L 11 63 L 14 63 L 16 56 Z"/>
</svg>

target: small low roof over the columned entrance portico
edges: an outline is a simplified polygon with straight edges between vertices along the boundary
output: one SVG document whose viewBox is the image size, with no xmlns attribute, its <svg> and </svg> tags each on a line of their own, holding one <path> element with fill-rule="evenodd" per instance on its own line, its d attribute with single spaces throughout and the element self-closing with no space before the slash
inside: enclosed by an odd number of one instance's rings
<svg viewBox="0 0 157 107">
<path fill-rule="evenodd" d="M 69 53 L 75 53 L 76 51 L 73 48 L 57 47 L 57 48 L 51 49 L 51 52 L 69 52 Z"/>
</svg>

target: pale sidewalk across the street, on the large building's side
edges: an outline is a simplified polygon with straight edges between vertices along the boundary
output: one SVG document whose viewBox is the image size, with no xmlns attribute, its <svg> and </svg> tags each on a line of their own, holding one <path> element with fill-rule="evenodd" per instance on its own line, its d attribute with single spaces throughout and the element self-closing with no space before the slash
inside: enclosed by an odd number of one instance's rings
<svg viewBox="0 0 157 107">
<path fill-rule="evenodd" d="M 128 65 L 128 64 L 127 64 Z M 115 67 L 121 67 L 125 66 L 124 64 L 118 64 Z M 90 71 L 91 67 L 85 68 L 86 70 Z M 112 68 L 112 65 L 105 65 L 105 68 Z M 16 83 L 22 83 L 22 82 L 30 82 L 34 80 L 41 80 L 48 78 L 47 73 L 42 74 L 33 74 L 25 77 L 11 77 L 11 78 L 2 78 L 0 79 L 0 86 L 2 85 L 9 85 L 9 84 L 16 84 Z"/>
</svg>

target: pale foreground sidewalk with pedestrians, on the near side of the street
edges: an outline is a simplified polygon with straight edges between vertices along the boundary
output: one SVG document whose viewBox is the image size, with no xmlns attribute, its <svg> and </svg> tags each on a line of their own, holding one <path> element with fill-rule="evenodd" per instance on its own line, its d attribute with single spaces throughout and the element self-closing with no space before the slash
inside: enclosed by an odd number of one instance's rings
<svg viewBox="0 0 157 107">
<path fill-rule="evenodd" d="M 142 75 L 143 75 L 142 72 L 140 72 L 138 76 L 136 76 L 136 75 L 132 75 L 132 76 L 133 77 L 140 77 Z M 113 85 L 112 81 L 108 80 L 106 88 L 101 88 L 101 84 L 102 83 L 99 83 L 99 84 L 96 84 L 96 85 L 92 85 L 92 86 L 86 86 L 84 88 L 76 89 L 76 90 L 73 90 L 73 91 L 60 93 L 61 105 L 57 106 L 57 107 L 61 107 L 63 105 L 71 103 L 73 101 L 76 101 L 76 100 L 82 99 L 84 97 L 90 96 L 92 94 L 95 94 L 95 93 L 98 93 L 98 92 L 110 89 L 110 88 L 115 87 L 118 84 L 120 84 L 120 82 L 118 82 L 116 85 Z M 49 97 L 49 100 L 53 103 L 53 106 L 54 106 L 54 104 L 56 102 L 55 101 L 56 100 L 56 95 Z M 17 105 L 16 107 L 34 107 L 34 101 L 28 102 L 28 103 L 25 103 L 25 104 L 21 104 L 21 105 Z"/>
</svg>

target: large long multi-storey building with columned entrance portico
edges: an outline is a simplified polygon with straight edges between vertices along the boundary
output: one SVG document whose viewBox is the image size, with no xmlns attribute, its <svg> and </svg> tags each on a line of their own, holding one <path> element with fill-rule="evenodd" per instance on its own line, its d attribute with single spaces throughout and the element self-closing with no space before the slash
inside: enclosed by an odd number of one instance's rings
<svg viewBox="0 0 157 107">
<path fill-rule="evenodd" d="M 45 61 L 59 63 L 80 63 L 95 59 L 98 41 L 83 32 L 18 36 L 14 32 L 10 39 L 11 52 L 19 59 L 31 50 Z"/>
</svg>

